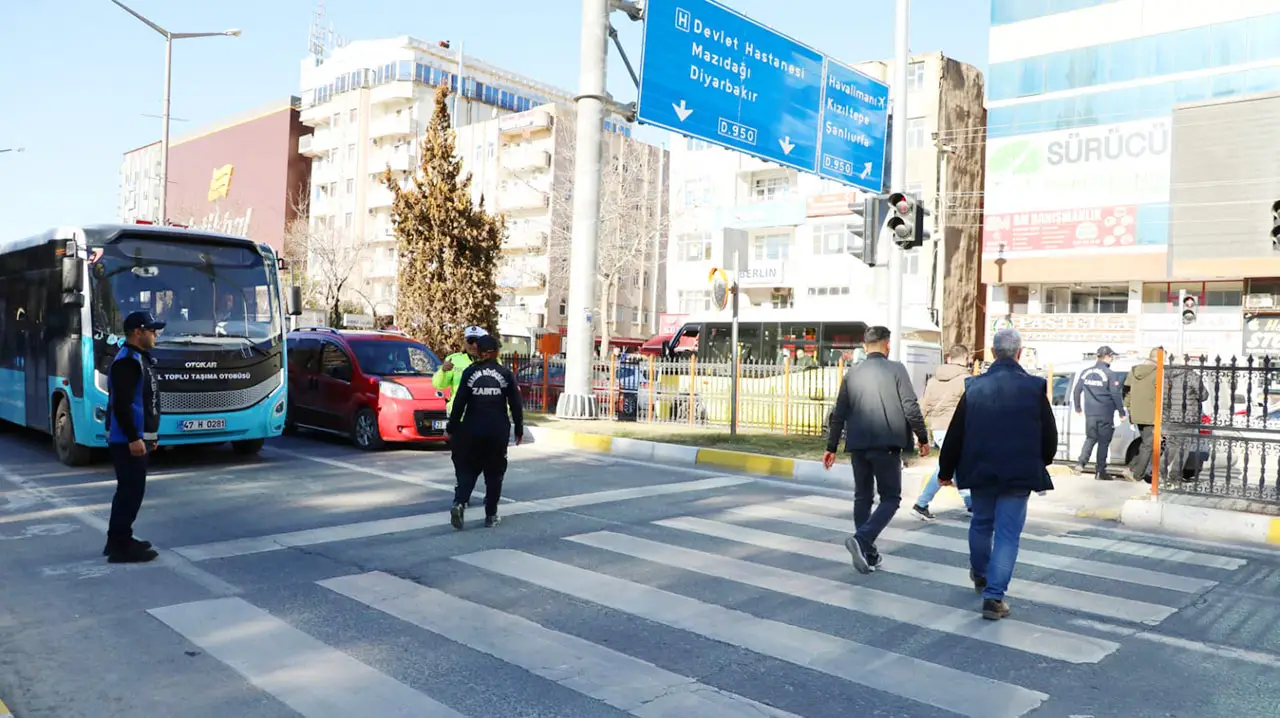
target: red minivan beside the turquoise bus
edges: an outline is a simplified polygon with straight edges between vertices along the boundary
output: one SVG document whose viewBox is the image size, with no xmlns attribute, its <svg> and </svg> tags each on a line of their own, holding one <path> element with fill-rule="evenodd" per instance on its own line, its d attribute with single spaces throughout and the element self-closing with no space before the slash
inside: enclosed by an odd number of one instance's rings
<svg viewBox="0 0 1280 718">
<path fill-rule="evenodd" d="M 349 436 L 361 449 L 444 442 L 447 392 L 431 385 L 440 360 L 398 331 L 306 328 L 287 340 L 285 433 Z"/>
</svg>

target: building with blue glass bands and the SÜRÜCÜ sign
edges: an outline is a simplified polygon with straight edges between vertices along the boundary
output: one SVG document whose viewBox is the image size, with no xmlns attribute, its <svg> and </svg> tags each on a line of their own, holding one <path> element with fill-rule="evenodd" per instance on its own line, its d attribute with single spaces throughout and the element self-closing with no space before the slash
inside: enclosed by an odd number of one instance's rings
<svg viewBox="0 0 1280 718">
<path fill-rule="evenodd" d="M 1275 0 L 993 0 L 987 319 L 1042 363 L 1100 344 L 1240 355 L 1280 301 L 1270 244 Z M 1249 298 L 1252 297 L 1252 298 Z M 1249 306 L 1253 305 L 1253 306 Z"/>
</svg>

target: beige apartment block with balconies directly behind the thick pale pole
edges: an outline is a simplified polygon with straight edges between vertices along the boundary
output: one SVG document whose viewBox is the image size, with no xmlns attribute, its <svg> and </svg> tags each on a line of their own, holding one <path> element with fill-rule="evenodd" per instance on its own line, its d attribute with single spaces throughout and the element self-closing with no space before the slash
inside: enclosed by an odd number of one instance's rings
<svg viewBox="0 0 1280 718">
<path fill-rule="evenodd" d="M 498 314 L 509 348 L 564 333 L 575 125 L 572 106 L 549 104 L 457 131 L 475 200 L 483 195 L 507 218 Z M 605 122 L 598 279 L 611 287 L 607 297 L 602 288 L 594 298 L 593 319 L 596 334 L 607 330 L 613 339 L 649 337 L 666 299 L 657 260 L 666 248 L 667 152 L 628 134 L 621 120 Z"/>
</svg>

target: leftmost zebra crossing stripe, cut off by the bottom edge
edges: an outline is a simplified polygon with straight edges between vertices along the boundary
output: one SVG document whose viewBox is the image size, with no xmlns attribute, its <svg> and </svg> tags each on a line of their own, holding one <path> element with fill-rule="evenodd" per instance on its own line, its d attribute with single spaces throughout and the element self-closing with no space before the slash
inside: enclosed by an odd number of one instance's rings
<svg viewBox="0 0 1280 718">
<path fill-rule="evenodd" d="M 302 718 L 463 718 L 243 599 L 200 600 L 147 613 Z"/>
</svg>

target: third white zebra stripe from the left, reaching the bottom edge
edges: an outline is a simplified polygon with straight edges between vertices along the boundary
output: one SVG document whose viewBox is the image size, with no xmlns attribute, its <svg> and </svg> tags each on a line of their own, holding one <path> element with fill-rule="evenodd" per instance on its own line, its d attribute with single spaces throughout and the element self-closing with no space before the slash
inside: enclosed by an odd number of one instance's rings
<svg viewBox="0 0 1280 718">
<path fill-rule="evenodd" d="M 1021 686 L 517 550 L 454 561 L 960 715 L 1016 718 L 1048 699 Z"/>
</svg>

